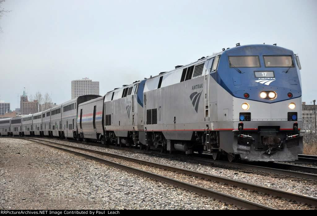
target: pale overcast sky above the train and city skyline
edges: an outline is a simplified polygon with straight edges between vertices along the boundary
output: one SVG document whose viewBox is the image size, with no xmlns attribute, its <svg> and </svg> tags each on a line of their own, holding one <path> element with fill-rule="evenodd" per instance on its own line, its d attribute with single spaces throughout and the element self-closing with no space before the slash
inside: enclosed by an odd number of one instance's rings
<svg viewBox="0 0 317 216">
<path fill-rule="evenodd" d="M 60 104 L 71 80 L 100 95 L 223 47 L 274 44 L 298 53 L 303 101 L 317 99 L 317 1 L 6 0 L 0 19 L 0 97 L 40 91 Z M 19 97 L 17 97 L 19 95 Z"/>
</svg>

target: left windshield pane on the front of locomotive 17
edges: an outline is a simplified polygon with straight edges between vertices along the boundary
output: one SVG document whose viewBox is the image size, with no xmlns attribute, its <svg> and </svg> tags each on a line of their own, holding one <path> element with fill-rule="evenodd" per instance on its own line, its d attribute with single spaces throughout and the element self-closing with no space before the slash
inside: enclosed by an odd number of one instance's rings
<svg viewBox="0 0 317 216">
<path fill-rule="evenodd" d="M 259 68 L 260 60 L 258 56 L 229 56 L 230 68 Z"/>
</svg>

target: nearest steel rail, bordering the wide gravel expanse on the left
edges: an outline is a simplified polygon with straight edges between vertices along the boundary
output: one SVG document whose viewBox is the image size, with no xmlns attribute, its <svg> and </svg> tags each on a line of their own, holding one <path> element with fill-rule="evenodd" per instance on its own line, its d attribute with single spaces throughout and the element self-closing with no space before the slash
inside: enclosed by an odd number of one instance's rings
<svg viewBox="0 0 317 216">
<path fill-rule="evenodd" d="M 75 155 L 83 156 L 83 157 L 86 157 L 88 159 L 93 159 L 95 161 L 98 161 L 98 162 L 101 162 L 101 163 L 104 163 L 104 164 L 107 164 L 107 165 L 111 165 L 113 167 L 117 167 L 117 168 L 120 168 L 120 169 L 123 169 L 123 170 L 126 170 L 126 171 L 130 171 L 130 172 L 133 172 L 133 173 L 145 176 L 145 177 L 149 177 L 149 178 L 152 178 L 154 180 L 165 182 L 165 183 L 174 185 L 174 186 L 179 187 L 179 188 L 190 190 L 190 191 L 192 191 L 194 193 L 197 193 L 197 194 L 200 194 L 200 195 L 205 195 L 205 196 L 208 196 L 208 197 L 212 197 L 212 198 L 215 198 L 215 199 L 217 199 L 219 201 L 222 201 L 222 202 L 225 202 L 225 203 L 232 203 L 232 204 L 236 205 L 237 207 L 242 207 L 242 208 L 246 208 L 246 209 L 257 209 L 257 210 L 265 210 L 265 209 L 275 210 L 275 208 L 268 207 L 268 206 L 265 206 L 265 205 L 262 205 L 262 204 L 259 204 L 259 203 L 256 203 L 256 202 L 252 202 L 252 201 L 245 200 L 245 199 L 242 199 L 242 198 L 239 198 L 239 197 L 235 197 L 235 196 L 232 196 L 232 195 L 224 194 L 224 193 L 221 193 L 221 192 L 218 192 L 218 191 L 214 191 L 214 190 L 211 190 L 211 189 L 206 189 L 206 188 L 203 188 L 203 187 L 191 184 L 191 183 L 186 183 L 186 182 L 183 182 L 183 181 L 179 181 L 179 180 L 176 180 L 176 179 L 173 179 L 173 178 L 165 177 L 165 176 L 162 176 L 162 175 L 159 175 L 159 174 L 155 174 L 155 173 L 152 173 L 152 172 L 140 170 L 140 169 L 133 168 L 133 167 L 130 167 L 130 166 L 126 166 L 126 165 L 123 165 L 123 164 L 118 164 L 118 163 L 115 163 L 115 162 L 110 161 L 110 160 L 106 160 L 106 159 L 102 159 L 102 158 L 99 158 L 99 157 L 95 157 L 93 155 L 76 152 L 76 151 L 73 151 L 73 150 L 70 150 L 70 149 L 67 149 L 67 148 L 58 147 L 58 146 L 50 145 L 50 144 L 47 144 L 47 143 L 42 143 L 42 142 L 39 142 L 39 141 L 35 141 L 34 139 L 32 140 L 32 138 L 17 138 L 17 139 L 23 139 L 23 140 L 27 140 L 27 141 L 32 141 L 32 142 L 35 142 L 35 143 L 38 143 L 38 144 L 42 144 L 42 145 L 53 147 L 53 148 L 56 148 L 56 149 L 59 149 L 59 150 L 63 150 L 63 151 L 68 152 L 68 153 L 73 153 Z M 41 140 L 41 141 L 44 141 L 44 140 Z M 50 142 L 50 141 L 46 141 L 46 142 Z M 59 144 L 59 143 L 56 143 L 56 144 Z"/>
</svg>

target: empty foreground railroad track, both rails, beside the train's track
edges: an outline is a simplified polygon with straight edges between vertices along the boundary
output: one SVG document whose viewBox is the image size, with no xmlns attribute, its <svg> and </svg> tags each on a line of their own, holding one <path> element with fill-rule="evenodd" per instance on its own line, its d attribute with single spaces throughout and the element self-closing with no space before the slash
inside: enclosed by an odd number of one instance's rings
<svg viewBox="0 0 317 216">
<path fill-rule="evenodd" d="M 258 204 L 258 203 L 255 203 L 255 202 L 244 200 L 244 199 L 232 196 L 232 195 L 223 194 L 221 192 L 217 192 L 217 191 L 214 191 L 214 190 L 202 188 L 202 187 L 199 187 L 197 185 L 193 185 L 193 184 L 190 184 L 190 183 L 178 181 L 178 180 L 173 179 L 173 178 L 164 177 L 164 176 L 161 176 L 161 175 L 158 175 L 158 174 L 155 174 L 155 173 L 151 173 L 151 172 L 148 172 L 148 171 L 136 169 L 136 168 L 133 168 L 133 167 L 128 167 L 128 166 L 123 165 L 123 164 L 118 164 L 118 163 L 115 163 L 115 162 L 112 162 L 112 161 L 109 161 L 109 160 L 106 160 L 106 159 L 101 159 L 101 158 L 98 158 L 96 156 L 88 155 L 88 154 L 85 154 L 85 153 L 75 152 L 75 151 L 72 151 L 70 149 L 57 147 L 55 145 L 68 147 L 68 148 L 73 148 L 73 149 L 77 149 L 77 150 L 81 150 L 81 151 L 88 151 L 88 152 L 95 153 L 95 154 L 106 155 L 106 156 L 110 156 L 110 157 L 117 158 L 117 159 L 128 160 L 128 161 L 132 161 L 132 162 L 135 162 L 135 163 L 138 163 L 138 164 L 143 164 L 143 165 L 157 167 L 157 168 L 168 170 L 168 171 L 182 173 L 182 174 L 189 175 L 189 176 L 195 176 L 195 177 L 199 177 L 199 178 L 203 178 L 203 179 L 208 179 L 208 180 L 211 180 L 211 181 L 214 181 L 214 182 L 221 182 L 221 183 L 232 185 L 232 186 L 239 187 L 239 188 L 244 188 L 244 189 L 248 189 L 248 190 L 252 190 L 252 191 L 258 191 L 258 192 L 260 192 L 262 194 L 269 194 L 269 195 L 272 195 L 272 196 L 275 196 L 275 197 L 282 197 L 284 199 L 297 201 L 297 202 L 305 203 L 305 204 L 312 205 L 312 206 L 317 206 L 317 199 L 314 198 L 314 197 L 310 197 L 310 196 L 299 195 L 299 194 L 296 194 L 296 193 L 291 193 L 291 192 L 287 192 L 287 191 L 283 191 L 283 190 L 278 190 L 278 189 L 264 187 L 264 186 L 260 186 L 260 185 L 256 185 L 256 184 L 251 184 L 251 183 L 246 183 L 246 182 L 242 182 L 242 181 L 237 181 L 237 180 L 233 180 L 233 179 L 230 179 L 230 178 L 210 175 L 210 174 L 197 172 L 197 171 L 191 171 L 191 170 L 182 169 L 182 168 L 179 168 L 179 167 L 174 167 L 174 166 L 169 166 L 169 165 L 153 163 L 153 162 L 150 162 L 150 161 L 135 159 L 135 158 L 131 158 L 131 157 L 123 156 L 123 155 L 118 155 L 118 154 L 113 154 L 113 153 L 106 153 L 106 152 L 102 152 L 102 151 L 96 151 L 96 150 L 92 150 L 92 149 L 87 149 L 87 148 L 82 148 L 82 147 L 77 147 L 77 146 L 71 146 L 71 145 L 66 145 L 66 144 L 61 144 L 61 143 L 56 143 L 56 142 L 52 142 L 52 141 L 46 141 L 46 140 L 42 140 L 42 139 L 35 139 L 35 138 L 20 138 L 20 139 L 29 140 L 29 141 L 33 141 L 33 142 L 36 142 L 36 143 L 48 145 L 50 147 L 58 148 L 58 149 L 61 149 L 61 150 L 67 151 L 67 152 L 71 152 L 71 153 L 74 153 L 74 154 L 77 154 L 77 155 L 81 155 L 81 156 L 84 156 L 84 157 L 87 157 L 87 158 L 90 158 L 90 159 L 94 159 L 94 160 L 106 163 L 108 165 L 113 165 L 115 167 L 118 167 L 118 168 L 121 168 L 121 169 L 125 169 L 127 171 L 132 171 L 134 173 L 138 173 L 138 174 L 141 174 L 141 175 L 146 176 L 146 177 L 150 177 L 150 178 L 153 178 L 153 179 L 165 182 L 165 183 L 169 183 L 169 184 L 172 184 L 172 185 L 180 187 L 180 188 L 191 190 L 191 191 L 193 191 L 195 193 L 198 193 L 198 194 L 210 196 L 210 197 L 213 197 L 213 198 L 215 198 L 217 200 L 220 200 L 220 201 L 223 201 L 223 202 L 233 203 L 234 205 L 237 205 L 237 206 L 243 207 L 243 208 L 248 208 L 248 209 L 273 209 L 272 207 L 264 206 L 262 204 Z M 42 143 L 42 142 L 48 142 L 50 144 Z M 51 145 L 51 144 L 53 144 L 53 145 Z"/>
</svg>

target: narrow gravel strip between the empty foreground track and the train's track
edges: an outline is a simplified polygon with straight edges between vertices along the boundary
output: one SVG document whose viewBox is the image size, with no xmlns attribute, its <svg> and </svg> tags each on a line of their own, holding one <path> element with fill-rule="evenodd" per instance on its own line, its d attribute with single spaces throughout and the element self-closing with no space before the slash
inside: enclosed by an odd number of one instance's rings
<svg viewBox="0 0 317 216">
<path fill-rule="evenodd" d="M 193 171 L 199 171 L 204 173 L 209 173 L 212 175 L 227 177 L 243 182 L 254 183 L 258 185 L 263 185 L 271 188 L 286 190 L 293 193 L 298 193 L 307 196 L 317 197 L 317 184 L 316 182 L 306 181 L 304 179 L 297 179 L 296 181 L 291 178 L 285 176 L 276 176 L 269 175 L 267 173 L 257 172 L 248 173 L 248 170 L 237 170 L 228 167 L 219 167 L 217 165 L 209 164 L 201 161 L 197 161 L 195 159 L 184 159 L 184 157 L 171 157 L 166 158 L 159 154 L 145 154 L 133 152 L 133 150 L 125 150 L 125 149 L 112 149 L 98 146 L 90 146 L 82 143 L 74 143 L 69 141 L 62 140 L 52 140 L 52 139 L 43 139 L 48 141 L 53 141 L 61 144 L 73 145 L 78 147 L 84 147 L 89 149 L 94 149 L 98 151 L 104 151 L 108 153 L 122 154 L 128 157 L 147 160 L 155 163 L 166 164 L 171 166 L 177 166 L 184 169 L 189 169 Z"/>
</svg>

